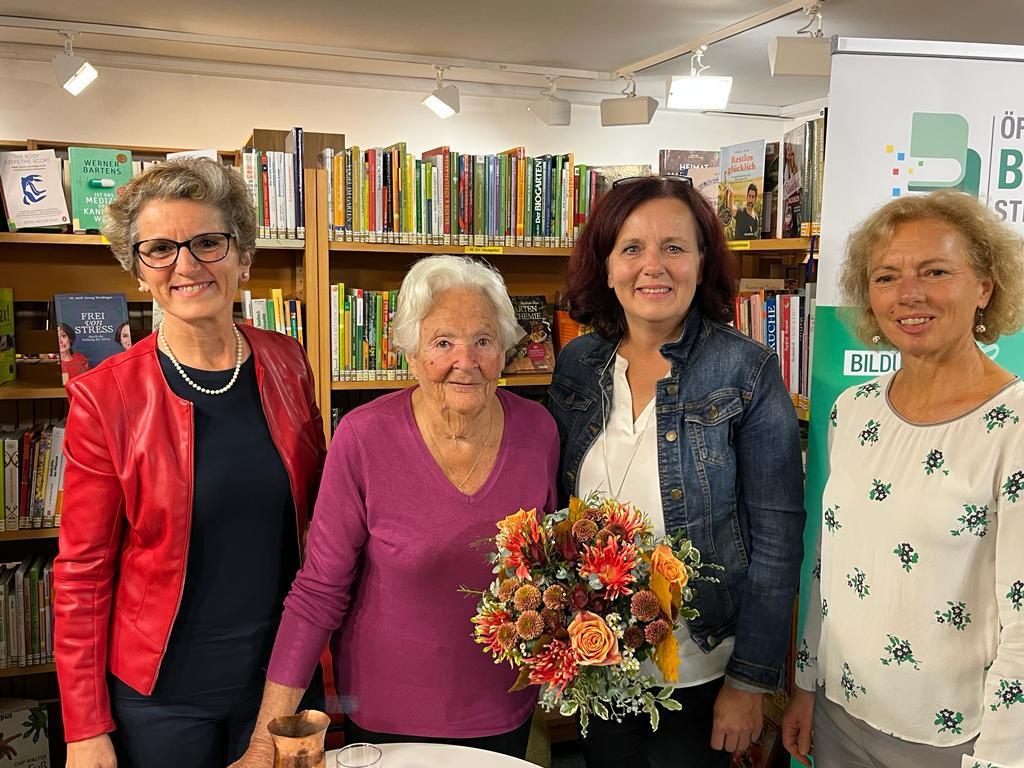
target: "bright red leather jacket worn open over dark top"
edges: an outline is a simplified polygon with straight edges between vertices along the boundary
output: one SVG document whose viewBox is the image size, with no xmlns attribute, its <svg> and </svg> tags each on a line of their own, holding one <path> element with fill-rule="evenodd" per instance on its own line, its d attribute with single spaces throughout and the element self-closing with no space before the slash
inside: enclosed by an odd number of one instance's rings
<svg viewBox="0 0 1024 768">
<path fill-rule="evenodd" d="M 294 340 L 240 330 L 301 544 L 325 455 L 312 374 Z M 188 559 L 194 421 L 167 385 L 156 334 L 72 380 L 68 396 L 54 651 L 65 734 L 79 741 L 115 729 L 108 671 L 141 693 L 156 685 Z"/>
</svg>

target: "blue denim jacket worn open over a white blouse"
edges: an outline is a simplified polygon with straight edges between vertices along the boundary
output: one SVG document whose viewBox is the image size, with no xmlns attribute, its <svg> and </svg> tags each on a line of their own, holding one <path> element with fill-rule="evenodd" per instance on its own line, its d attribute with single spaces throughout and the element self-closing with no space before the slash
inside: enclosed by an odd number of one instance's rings
<svg viewBox="0 0 1024 768">
<path fill-rule="evenodd" d="M 548 407 L 562 441 L 559 487 L 580 465 L 611 408 L 614 342 L 574 339 L 558 355 Z M 793 600 L 803 559 L 803 469 L 797 416 L 778 358 L 695 306 L 680 338 L 662 345 L 672 374 L 657 382 L 657 466 L 670 534 L 682 530 L 721 582 L 694 585 L 700 616 L 687 624 L 708 652 L 736 638 L 726 673 L 742 683 L 782 683 Z M 602 409 L 604 397 L 604 409 Z M 563 498 L 562 501 L 565 501 Z"/>
</svg>

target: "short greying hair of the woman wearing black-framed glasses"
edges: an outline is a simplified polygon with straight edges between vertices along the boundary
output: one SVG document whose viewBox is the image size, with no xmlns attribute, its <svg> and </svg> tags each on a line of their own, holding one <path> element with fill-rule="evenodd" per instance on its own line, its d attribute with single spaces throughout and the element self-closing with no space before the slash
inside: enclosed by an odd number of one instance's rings
<svg viewBox="0 0 1024 768">
<path fill-rule="evenodd" d="M 178 158 L 140 173 L 106 207 L 103 234 L 126 271 L 138 276 L 132 244 L 138 240 L 136 222 L 146 204 L 158 200 L 191 200 L 215 209 L 234 234 L 239 261 L 252 263 L 256 251 L 256 209 L 242 174 L 209 158 Z"/>
</svg>

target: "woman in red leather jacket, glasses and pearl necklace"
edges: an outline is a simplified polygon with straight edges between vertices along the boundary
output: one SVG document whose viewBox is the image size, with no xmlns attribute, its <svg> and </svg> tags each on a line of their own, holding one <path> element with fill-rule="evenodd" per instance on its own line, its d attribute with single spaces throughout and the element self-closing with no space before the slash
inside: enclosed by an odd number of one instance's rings
<svg viewBox="0 0 1024 768">
<path fill-rule="evenodd" d="M 104 233 L 164 319 L 68 385 L 55 650 L 69 768 L 244 751 L 323 464 L 302 347 L 232 322 L 256 213 L 209 160 L 129 182 Z"/>
</svg>

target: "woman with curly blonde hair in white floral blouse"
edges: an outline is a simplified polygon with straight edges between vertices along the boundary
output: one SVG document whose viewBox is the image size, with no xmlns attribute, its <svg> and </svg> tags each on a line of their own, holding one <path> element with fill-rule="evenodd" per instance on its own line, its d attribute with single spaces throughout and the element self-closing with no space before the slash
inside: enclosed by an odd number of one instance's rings
<svg viewBox="0 0 1024 768">
<path fill-rule="evenodd" d="M 831 411 L 782 728 L 805 764 L 813 723 L 818 768 L 1024 767 L 1024 384 L 994 361 L 1022 286 L 1020 237 L 959 193 L 850 239 L 844 304 L 902 368 Z"/>
</svg>

